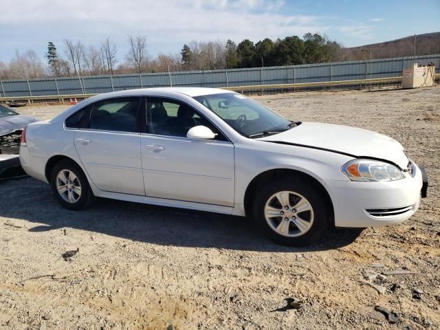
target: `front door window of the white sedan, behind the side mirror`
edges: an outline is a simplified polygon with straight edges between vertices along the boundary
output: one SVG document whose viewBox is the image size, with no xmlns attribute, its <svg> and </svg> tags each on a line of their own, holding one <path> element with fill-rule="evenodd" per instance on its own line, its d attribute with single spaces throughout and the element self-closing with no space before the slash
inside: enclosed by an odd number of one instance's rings
<svg viewBox="0 0 440 330">
<path fill-rule="evenodd" d="M 146 102 L 148 133 L 186 137 L 194 126 L 206 126 L 217 133 L 216 140 L 226 140 L 214 125 L 188 104 L 167 98 L 148 98 Z"/>
</svg>

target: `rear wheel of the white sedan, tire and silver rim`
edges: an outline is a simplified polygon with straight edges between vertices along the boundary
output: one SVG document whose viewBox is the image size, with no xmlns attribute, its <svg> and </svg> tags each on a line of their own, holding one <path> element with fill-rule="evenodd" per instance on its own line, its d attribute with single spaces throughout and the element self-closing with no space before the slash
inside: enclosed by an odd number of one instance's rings
<svg viewBox="0 0 440 330">
<path fill-rule="evenodd" d="M 68 159 L 61 160 L 52 168 L 50 185 L 56 200 L 68 210 L 83 210 L 94 199 L 83 170 Z"/>
</svg>

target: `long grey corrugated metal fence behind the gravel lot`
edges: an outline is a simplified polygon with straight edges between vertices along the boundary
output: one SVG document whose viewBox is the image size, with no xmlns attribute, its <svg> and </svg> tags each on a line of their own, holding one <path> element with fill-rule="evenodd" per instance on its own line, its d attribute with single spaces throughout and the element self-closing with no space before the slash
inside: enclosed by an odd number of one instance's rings
<svg viewBox="0 0 440 330">
<path fill-rule="evenodd" d="M 381 58 L 373 61 L 350 61 L 228 69 L 159 74 L 131 74 L 118 76 L 87 76 L 0 81 L 0 97 L 56 96 L 69 94 L 100 94 L 109 91 L 146 87 L 237 87 L 285 83 L 314 83 L 365 78 L 401 76 L 402 69 L 412 63 L 428 65 L 433 62 L 440 74 L 440 55 L 400 58 Z"/>
</svg>

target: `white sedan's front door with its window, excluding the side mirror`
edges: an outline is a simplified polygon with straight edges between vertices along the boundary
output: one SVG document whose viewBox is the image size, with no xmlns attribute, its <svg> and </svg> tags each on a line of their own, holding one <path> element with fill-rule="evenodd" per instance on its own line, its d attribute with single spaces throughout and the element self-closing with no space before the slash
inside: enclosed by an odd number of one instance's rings
<svg viewBox="0 0 440 330">
<path fill-rule="evenodd" d="M 188 107 L 167 98 L 147 99 L 148 133 L 140 137 L 146 195 L 233 206 L 234 144 Z M 218 132 L 217 138 L 186 137 L 191 126 L 199 124 Z"/>
</svg>

